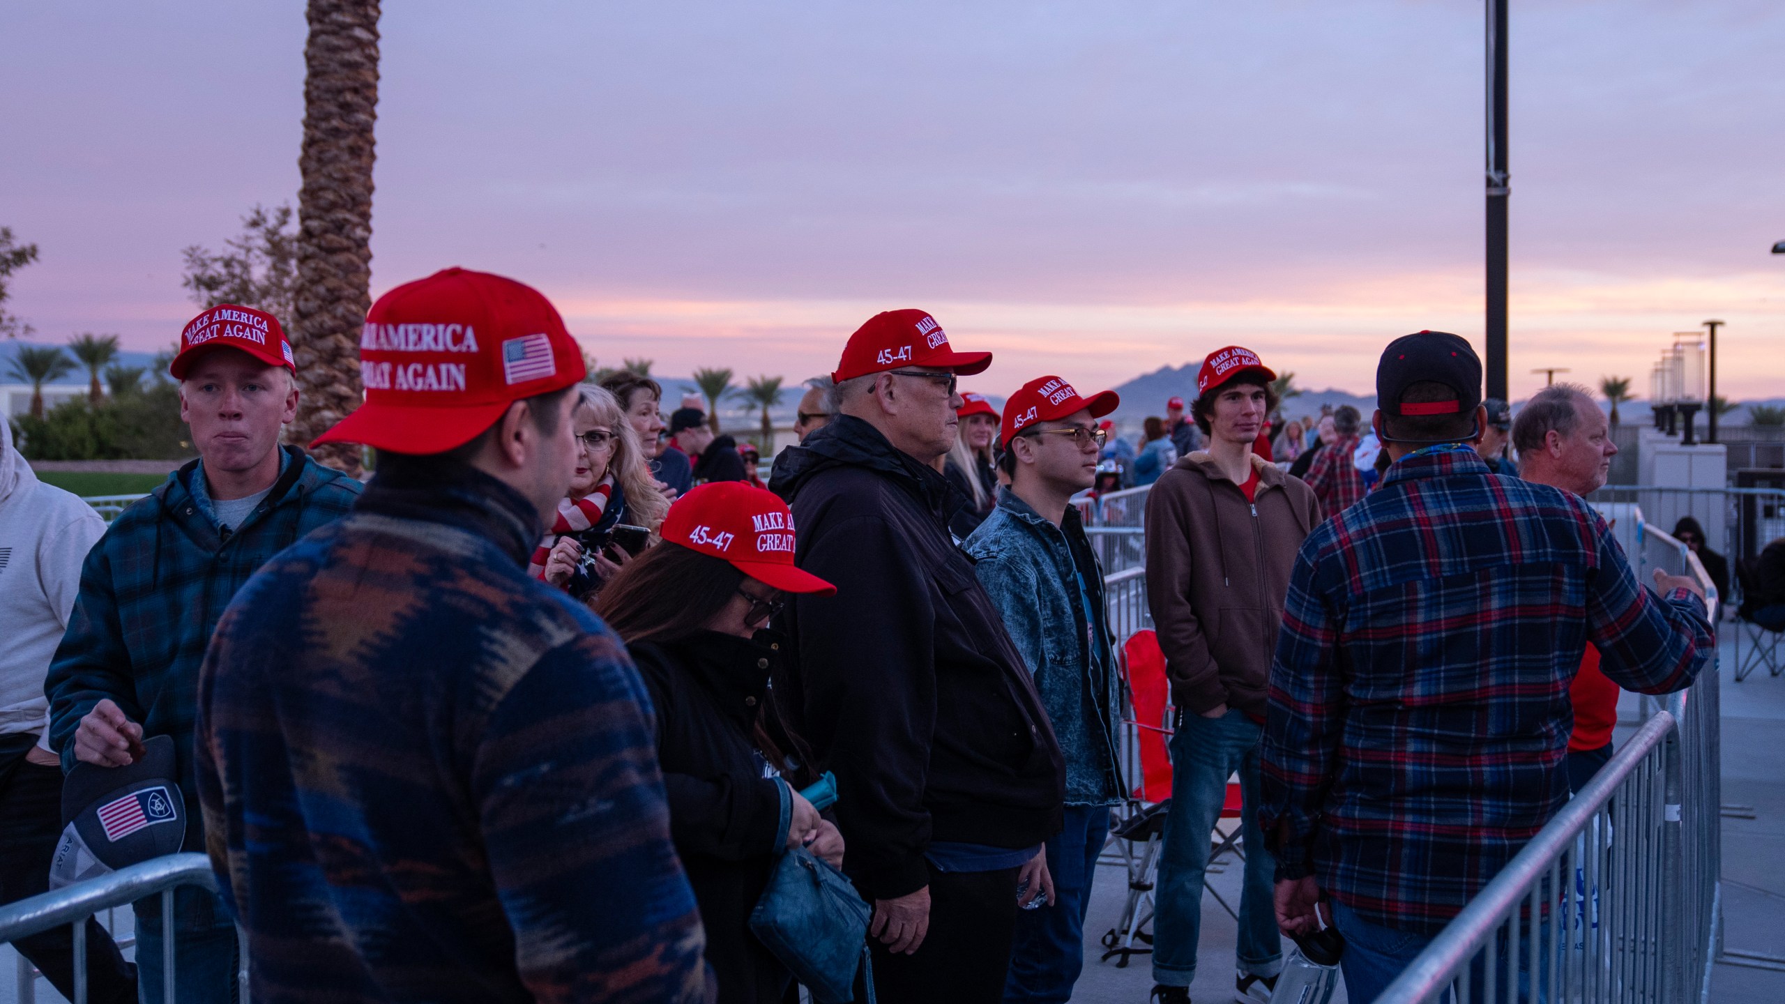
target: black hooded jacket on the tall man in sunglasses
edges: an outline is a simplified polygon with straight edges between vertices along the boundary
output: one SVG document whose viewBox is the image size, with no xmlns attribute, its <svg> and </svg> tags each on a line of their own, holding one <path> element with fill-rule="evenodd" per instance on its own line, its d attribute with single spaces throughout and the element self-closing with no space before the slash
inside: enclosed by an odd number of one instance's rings
<svg viewBox="0 0 1785 1004">
<path fill-rule="evenodd" d="M 841 414 L 769 488 L 800 566 L 837 586 L 782 613 L 778 711 L 837 775 L 844 872 L 868 899 L 928 884 L 932 840 L 1032 847 L 1060 829 L 1066 766 L 1023 657 L 944 518 L 934 468 Z"/>
</svg>

